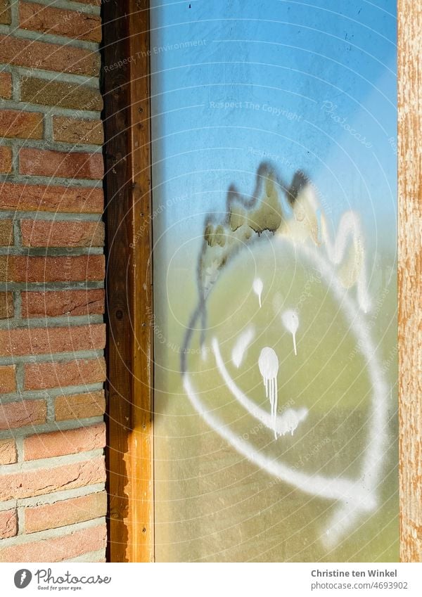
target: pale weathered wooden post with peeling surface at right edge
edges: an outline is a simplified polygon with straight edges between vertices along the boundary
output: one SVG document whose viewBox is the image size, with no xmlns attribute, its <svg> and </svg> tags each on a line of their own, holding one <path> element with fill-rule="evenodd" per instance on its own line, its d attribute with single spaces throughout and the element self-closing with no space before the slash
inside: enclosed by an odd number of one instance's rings
<svg viewBox="0 0 422 597">
<path fill-rule="evenodd" d="M 398 3 L 400 556 L 422 562 L 422 8 Z"/>
</svg>

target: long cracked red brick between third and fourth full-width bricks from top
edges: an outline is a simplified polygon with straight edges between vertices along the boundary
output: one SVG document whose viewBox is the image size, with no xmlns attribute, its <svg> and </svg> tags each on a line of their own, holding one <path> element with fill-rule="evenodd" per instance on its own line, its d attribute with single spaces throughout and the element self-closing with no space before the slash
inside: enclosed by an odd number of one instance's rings
<svg viewBox="0 0 422 597">
<path fill-rule="evenodd" d="M 104 290 L 50 290 L 21 293 L 23 317 L 94 315 L 104 312 Z M 0 303 L 1 304 L 1 303 Z"/>
</svg>

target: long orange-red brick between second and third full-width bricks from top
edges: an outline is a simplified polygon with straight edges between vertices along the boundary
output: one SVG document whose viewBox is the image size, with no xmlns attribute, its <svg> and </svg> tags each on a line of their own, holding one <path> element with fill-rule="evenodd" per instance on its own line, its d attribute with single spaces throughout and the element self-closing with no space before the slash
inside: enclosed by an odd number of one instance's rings
<svg viewBox="0 0 422 597">
<path fill-rule="evenodd" d="M 20 221 L 20 229 L 25 247 L 102 247 L 104 245 L 103 222 L 24 219 Z"/>
</svg>

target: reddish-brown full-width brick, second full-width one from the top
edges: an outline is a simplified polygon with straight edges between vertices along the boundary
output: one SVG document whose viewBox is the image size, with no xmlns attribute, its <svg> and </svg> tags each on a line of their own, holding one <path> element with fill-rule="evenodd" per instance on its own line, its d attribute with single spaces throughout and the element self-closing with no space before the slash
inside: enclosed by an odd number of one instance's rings
<svg viewBox="0 0 422 597">
<path fill-rule="evenodd" d="M 101 188 L 0 183 L 0 210 L 101 214 Z"/>
</svg>

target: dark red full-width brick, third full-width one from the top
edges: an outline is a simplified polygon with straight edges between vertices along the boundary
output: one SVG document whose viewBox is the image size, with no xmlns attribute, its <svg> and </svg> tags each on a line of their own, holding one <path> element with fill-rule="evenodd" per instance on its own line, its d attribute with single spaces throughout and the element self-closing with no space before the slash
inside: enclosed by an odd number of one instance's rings
<svg viewBox="0 0 422 597">
<path fill-rule="evenodd" d="M 72 282 L 102 281 L 103 255 L 23 257 L 0 255 L 0 281 Z"/>
</svg>

